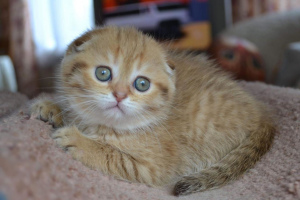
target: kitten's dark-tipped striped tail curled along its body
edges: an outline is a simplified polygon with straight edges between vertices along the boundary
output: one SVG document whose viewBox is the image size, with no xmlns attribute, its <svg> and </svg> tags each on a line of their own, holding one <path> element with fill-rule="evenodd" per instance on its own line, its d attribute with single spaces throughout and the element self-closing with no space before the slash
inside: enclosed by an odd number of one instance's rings
<svg viewBox="0 0 300 200">
<path fill-rule="evenodd" d="M 275 127 L 271 122 L 263 122 L 256 132 L 252 132 L 220 162 L 177 182 L 174 194 L 179 196 L 215 189 L 237 179 L 269 150 L 274 132 Z"/>
</svg>

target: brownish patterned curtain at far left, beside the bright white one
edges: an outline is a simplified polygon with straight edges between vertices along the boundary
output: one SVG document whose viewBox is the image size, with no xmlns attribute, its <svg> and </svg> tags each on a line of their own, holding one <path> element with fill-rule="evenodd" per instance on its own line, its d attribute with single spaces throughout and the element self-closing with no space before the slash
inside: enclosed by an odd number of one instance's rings
<svg viewBox="0 0 300 200">
<path fill-rule="evenodd" d="M 1 0 L 1 53 L 12 59 L 18 89 L 29 97 L 38 92 L 28 4 L 26 0 Z"/>
</svg>

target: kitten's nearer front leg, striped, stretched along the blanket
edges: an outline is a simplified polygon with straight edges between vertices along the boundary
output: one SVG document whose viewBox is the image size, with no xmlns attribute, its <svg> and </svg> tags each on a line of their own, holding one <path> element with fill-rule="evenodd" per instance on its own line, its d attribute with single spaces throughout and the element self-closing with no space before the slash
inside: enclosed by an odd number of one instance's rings
<svg viewBox="0 0 300 200">
<path fill-rule="evenodd" d="M 106 174 L 133 182 L 159 185 L 159 179 L 153 177 L 151 163 L 132 157 L 119 149 L 93 140 L 75 126 L 58 129 L 52 134 L 57 145 L 78 161 L 92 169 L 100 169 Z"/>
</svg>

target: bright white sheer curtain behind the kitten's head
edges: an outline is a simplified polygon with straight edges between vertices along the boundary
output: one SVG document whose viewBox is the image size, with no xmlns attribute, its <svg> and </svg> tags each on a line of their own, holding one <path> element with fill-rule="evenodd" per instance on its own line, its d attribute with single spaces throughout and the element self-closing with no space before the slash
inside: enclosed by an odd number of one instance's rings
<svg viewBox="0 0 300 200">
<path fill-rule="evenodd" d="M 28 1 L 35 55 L 41 68 L 57 64 L 67 45 L 94 26 L 92 0 Z"/>
</svg>

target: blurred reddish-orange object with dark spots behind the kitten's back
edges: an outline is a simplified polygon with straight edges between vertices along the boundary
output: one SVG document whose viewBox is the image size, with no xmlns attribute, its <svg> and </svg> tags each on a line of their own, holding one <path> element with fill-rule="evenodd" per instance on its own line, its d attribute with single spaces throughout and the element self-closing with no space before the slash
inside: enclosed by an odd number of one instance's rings
<svg viewBox="0 0 300 200">
<path fill-rule="evenodd" d="M 220 37 L 212 45 L 210 54 L 225 70 L 237 79 L 265 81 L 263 60 L 257 48 L 247 40 Z"/>
</svg>

